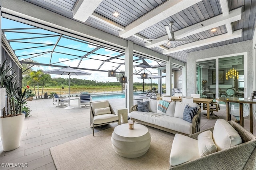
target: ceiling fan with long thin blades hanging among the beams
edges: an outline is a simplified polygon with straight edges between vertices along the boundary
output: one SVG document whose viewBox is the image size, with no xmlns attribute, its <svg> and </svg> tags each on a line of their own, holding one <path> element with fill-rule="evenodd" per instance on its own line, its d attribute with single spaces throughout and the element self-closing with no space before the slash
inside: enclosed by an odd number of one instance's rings
<svg viewBox="0 0 256 170">
<path fill-rule="evenodd" d="M 171 27 L 171 29 L 169 29 L 169 25 Z M 174 38 L 174 32 L 172 31 L 172 25 L 173 25 L 173 22 L 170 22 L 169 25 L 165 25 L 165 29 L 166 29 L 166 32 L 168 34 L 168 43 L 172 44 L 172 47 L 175 48 L 175 44 L 174 44 L 174 41 L 197 41 L 199 40 L 199 38 L 189 38 L 189 39 L 175 39 Z M 164 40 L 159 40 L 159 39 L 144 39 L 144 40 L 156 40 L 156 41 L 164 41 Z"/>
</svg>

